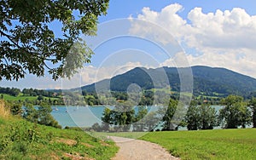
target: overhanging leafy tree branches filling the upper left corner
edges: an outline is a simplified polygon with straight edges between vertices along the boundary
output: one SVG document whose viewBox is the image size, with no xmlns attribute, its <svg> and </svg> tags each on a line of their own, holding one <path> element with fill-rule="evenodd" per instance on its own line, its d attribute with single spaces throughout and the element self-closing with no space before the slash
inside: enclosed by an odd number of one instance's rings
<svg viewBox="0 0 256 160">
<path fill-rule="evenodd" d="M 2 0 L 0 80 L 18 80 L 27 72 L 44 76 L 46 68 L 54 79 L 71 77 L 92 54 L 78 37 L 96 34 L 108 1 Z M 60 31 L 50 29 L 53 23 Z"/>
</svg>

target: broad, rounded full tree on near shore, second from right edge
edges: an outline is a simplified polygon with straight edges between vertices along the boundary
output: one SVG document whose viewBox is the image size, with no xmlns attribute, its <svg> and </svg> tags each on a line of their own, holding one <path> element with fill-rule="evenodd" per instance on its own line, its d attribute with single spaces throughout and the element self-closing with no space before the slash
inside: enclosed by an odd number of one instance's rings
<svg viewBox="0 0 256 160">
<path fill-rule="evenodd" d="M 219 110 L 219 119 L 226 129 L 237 129 L 238 126 L 245 128 L 247 124 L 251 124 L 251 111 L 247 108 L 247 103 L 243 101 L 241 96 L 229 95 L 221 100 L 224 105 Z"/>
</svg>

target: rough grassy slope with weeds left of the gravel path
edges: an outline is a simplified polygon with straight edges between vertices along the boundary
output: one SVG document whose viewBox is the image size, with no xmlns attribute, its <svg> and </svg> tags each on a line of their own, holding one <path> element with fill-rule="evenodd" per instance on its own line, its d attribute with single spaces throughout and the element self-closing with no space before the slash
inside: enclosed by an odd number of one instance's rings
<svg viewBox="0 0 256 160">
<path fill-rule="evenodd" d="M 18 117 L 1 116 L 0 159 L 110 159 L 118 147 L 81 131 L 54 129 L 28 123 Z M 6 115 L 6 114 L 5 114 Z"/>
</svg>

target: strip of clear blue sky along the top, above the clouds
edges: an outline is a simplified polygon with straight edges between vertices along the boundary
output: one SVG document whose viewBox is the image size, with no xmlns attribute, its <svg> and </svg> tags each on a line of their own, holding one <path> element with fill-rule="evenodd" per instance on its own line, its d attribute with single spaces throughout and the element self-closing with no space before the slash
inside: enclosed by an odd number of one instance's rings
<svg viewBox="0 0 256 160">
<path fill-rule="evenodd" d="M 126 18 L 130 14 L 140 14 L 143 7 L 149 7 L 155 11 L 160 11 L 167 5 L 179 3 L 184 10 L 180 13 L 183 18 L 187 18 L 187 14 L 195 7 L 201 7 L 204 12 L 215 12 L 217 9 L 231 10 L 233 8 L 246 9 L 248 14 L 256 14 L 256 2 L 253 0 L 110 0 L 108 15 L 100 18 L 100 22 L 105 20 L 113 20 L 117 18 Z"/>
</svg>

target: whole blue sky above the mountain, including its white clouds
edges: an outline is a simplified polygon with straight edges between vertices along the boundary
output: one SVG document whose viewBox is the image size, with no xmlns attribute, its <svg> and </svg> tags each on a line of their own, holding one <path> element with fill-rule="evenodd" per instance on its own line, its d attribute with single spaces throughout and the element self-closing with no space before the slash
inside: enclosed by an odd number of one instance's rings
<svg viewBox="0 0 256 160">
<path fill-rule="evenodd" d="M 137 66 L 224 67 L 256 77 L 255 7 L 254 0 L 110 0 L 97 36 L 81 36 L 95 54 L 79 74 L 58 81 L 26 75 L 0 86 L 72 89 Z"/>
</svg>

